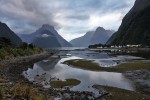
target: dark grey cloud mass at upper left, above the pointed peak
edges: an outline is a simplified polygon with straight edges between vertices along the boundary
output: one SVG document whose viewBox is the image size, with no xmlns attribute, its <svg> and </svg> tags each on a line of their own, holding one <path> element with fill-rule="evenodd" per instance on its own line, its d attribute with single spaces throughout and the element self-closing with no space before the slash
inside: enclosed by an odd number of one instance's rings
<svg viewBox="0 0 150 100">
<path fill-rule="evenodd" d="M 51 10 L 42 7 L 41 3 L 37 2 L 37 0 L 1 0 L 0 13 L 1 20 L 5 21 L 7 19 L 16 22 L 14 24 L 12 23 L 13 26 L 11 27 L 16 26 L 17 23 L 22 23 L 22 28 L 25 25 L 28 25 L 28 28 L 40 27 L 45 23 L 55 27 L 59 26 L 53 21 L 54 17 Z"/>
</svg>

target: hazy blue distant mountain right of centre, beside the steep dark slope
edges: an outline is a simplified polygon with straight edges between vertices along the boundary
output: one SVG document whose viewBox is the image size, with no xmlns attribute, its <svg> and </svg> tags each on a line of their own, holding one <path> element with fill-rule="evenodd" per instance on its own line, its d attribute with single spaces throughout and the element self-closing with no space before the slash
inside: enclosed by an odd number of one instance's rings
<svg viewBox="0 0 150 100">
<path fill-rule="evenodd" d="M 87 47 L 93 44 L 105 44 L 113 33 L 114 31 L 98 27 L 96 31 L 89 31 L 84 36 L 71 40 L 70 43 L 74 47 Z"/>
</svg>

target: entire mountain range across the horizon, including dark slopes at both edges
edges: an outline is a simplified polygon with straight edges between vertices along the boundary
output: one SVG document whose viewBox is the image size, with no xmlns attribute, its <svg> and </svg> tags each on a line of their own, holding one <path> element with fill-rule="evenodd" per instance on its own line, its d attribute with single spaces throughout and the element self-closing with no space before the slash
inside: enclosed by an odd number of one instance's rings
<svg viewBox="0 0 150 100">
<path fill-rule="evenodd" d="M 150 0 L 136 0 L 132 9 L 123 18 L 118 31 L 113 33 L 114 31 L 98 27 L 96 31 L 89 31 L 69 43 L 58 34 L 53 26 L 44 24 L 32 34 L 19 36 L 23 41 L 41 48 L 87 47 L 105 43 L 108 45 L 142 44 L 150 46 Z M 0 37 L 8 38 L 14 45 L 22 43 L 22 40 L 12 30 L 1 22 Z"/>
</svg>

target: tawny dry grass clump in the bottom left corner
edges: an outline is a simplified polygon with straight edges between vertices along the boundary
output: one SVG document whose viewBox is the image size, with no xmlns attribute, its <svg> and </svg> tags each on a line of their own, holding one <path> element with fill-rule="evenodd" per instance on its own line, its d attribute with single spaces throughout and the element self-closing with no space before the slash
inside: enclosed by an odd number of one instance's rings
<svg viewBox="0 0 150 100">
<path fill-rule="evenodd" d="M 18 83 L 12 88 L 0 87 L 0 99 L 6 100 L 8 95 L 11 95 L 13 100 L 48 100 L 45 93 L 23 83 Z"/>
</svg>

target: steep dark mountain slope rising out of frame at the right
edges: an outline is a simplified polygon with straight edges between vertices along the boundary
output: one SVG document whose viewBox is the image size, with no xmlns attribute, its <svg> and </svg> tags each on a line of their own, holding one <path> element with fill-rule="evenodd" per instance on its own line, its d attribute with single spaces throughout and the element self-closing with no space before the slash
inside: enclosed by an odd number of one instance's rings
<svg viewBox="0 0 150 100">
<path fill-rule="evenodd" d="M 150 45 L 150 0 L 136 0 L 123 18 L 119 30 L 107 41 L 110 45 Z"/>
</svg>

